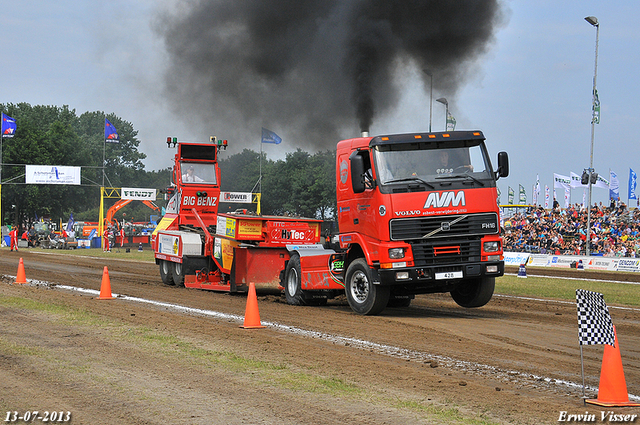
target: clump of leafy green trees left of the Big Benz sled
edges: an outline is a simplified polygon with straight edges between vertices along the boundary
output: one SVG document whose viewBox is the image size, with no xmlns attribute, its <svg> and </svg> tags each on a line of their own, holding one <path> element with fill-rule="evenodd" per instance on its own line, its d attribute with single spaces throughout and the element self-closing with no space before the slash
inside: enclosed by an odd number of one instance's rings
<svg viewBox="0 0 640 425">
<path fill-rule="evenodd" d="M 3 224 L 22 223 L 49 216 L 66 221 L 69 214 L 97 211 L 100 203 L 103 155 L 105 185 L 113 187 L 166 187 L 167 170 L 146 173 L 133 125 L 113 114 L 87 112 L 80 117 L 68 106 L 0 104 L 0 111 L 16 120 L 16 134 L 2 140 Z M 105 144 L 105 117 L 114 124 L 120 143 Z M 26 185 L 25 165 L 82 167 L 81 185 Z M 93 220 L 97 220 L 96 217 Z"/>
</svg>

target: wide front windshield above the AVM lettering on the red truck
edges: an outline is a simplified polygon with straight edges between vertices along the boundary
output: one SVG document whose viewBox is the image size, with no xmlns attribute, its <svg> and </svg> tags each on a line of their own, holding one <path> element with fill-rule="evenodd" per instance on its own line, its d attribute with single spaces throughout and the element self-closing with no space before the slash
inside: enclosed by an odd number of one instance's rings
<svg viewBox="0 0 640 425">
<path fill-rule="evenodd" d="M 474 180 L 491 178 L 482 145 L 428 148 L 406 144 L 375 146 L 376 177 L 380 184 L 407 182 L 409 179 L 433 182 L 465 174 Z"/>
</svg>

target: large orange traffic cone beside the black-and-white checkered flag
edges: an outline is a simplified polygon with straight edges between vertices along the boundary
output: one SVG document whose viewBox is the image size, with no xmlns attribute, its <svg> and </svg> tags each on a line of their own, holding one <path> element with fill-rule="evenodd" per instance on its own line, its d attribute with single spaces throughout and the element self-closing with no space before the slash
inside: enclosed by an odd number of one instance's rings
<svg viewBox="0 0 640 425">
<path fill-rule="evenodd" d="M 629 401 L 627 381 L 624 379 L 624 371 L 622 370 L 622 357 L 620 356 L 620 346 L 618 345 L 618 334 L 615 326 L 613 327 L 613 334 L 616 346 L 612 347 L 608 344 L 604 346 L 598 398 L 585 400 L 585 402 L 604 407 L 640 406 L 640 403 Z"/>
</svg>

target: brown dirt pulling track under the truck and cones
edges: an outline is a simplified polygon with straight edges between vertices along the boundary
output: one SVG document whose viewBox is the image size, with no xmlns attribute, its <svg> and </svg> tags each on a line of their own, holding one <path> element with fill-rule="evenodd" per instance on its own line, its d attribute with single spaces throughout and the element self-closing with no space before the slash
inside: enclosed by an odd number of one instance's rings
<svg viewBox="0 0 640 425">
<path fill-rule="evenodd" d="M 107 266 L 113 293 L 126 297 L 3 278 L 4 415 L 70 411 L 76 424 L 534 424 L 557 423 L 561 411 L 598 420 L 607 411 L 581 399 L 574 303 L 498 294 L 465 310 L 448 295 L 425 295 L 362 317 L 345 300 L 293 307 L 259 295 L 266 328 L 245 330 L 244 296 L 163 286 L 153 263 L 3 250 L 0 274 L 15 276 L 20 257 L 28 279 L 96 291 Z M 640 394 L 640 310 L 611 315 L 628 391 Z M 587 384 L 597 387 L 602 347 L 584 355 Z"/>
</svg>

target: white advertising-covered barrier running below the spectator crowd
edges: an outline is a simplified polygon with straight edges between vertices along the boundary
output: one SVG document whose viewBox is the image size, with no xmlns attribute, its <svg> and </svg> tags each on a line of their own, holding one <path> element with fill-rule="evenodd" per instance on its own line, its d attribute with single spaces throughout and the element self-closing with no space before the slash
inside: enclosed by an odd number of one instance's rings
<svg viewBox="0 0 640 425">
<path fill-rule="evenodd" d="M 616 257 L 587 257 L 585 255 L 552 255 L 552 254 L 529 254 L 526 252 L 505 252 L 504 264 L 508 266 L 528 266 L 539 267 L 561 267 L 571 268 L 572 263 L 579 263 L 585 269 L 609 270 L 623 272 L 640 272 L 640 259 L 638 258 L 616 258 Z"/>
</svg>

